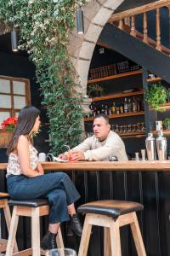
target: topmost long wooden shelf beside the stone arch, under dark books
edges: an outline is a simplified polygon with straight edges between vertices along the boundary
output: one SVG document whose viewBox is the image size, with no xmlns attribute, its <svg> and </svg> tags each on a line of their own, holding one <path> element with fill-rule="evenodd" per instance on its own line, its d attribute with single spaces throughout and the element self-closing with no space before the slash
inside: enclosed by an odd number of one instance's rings
<svg viewBox="0 0 170 256">
<path fill-rule="evenodd" d="M 116 75 L 112 75 L 112 76 L 105 77 L 105 78 L 88 80 L 88 84 L 93 84 L 93 83 L 96 83 L 96 82 L 101 82 L 101 81 L 106 81 L 106 80 L 111 80 L 111 79 L 119 79 L 119 78 L 133 76 L 133 75 L 141 74 L 141 73 L 142 73 L 141 69 L 136 70 L 136 71 L 126 72 L 126 73 L 118 73 Z"/>
</svg>

